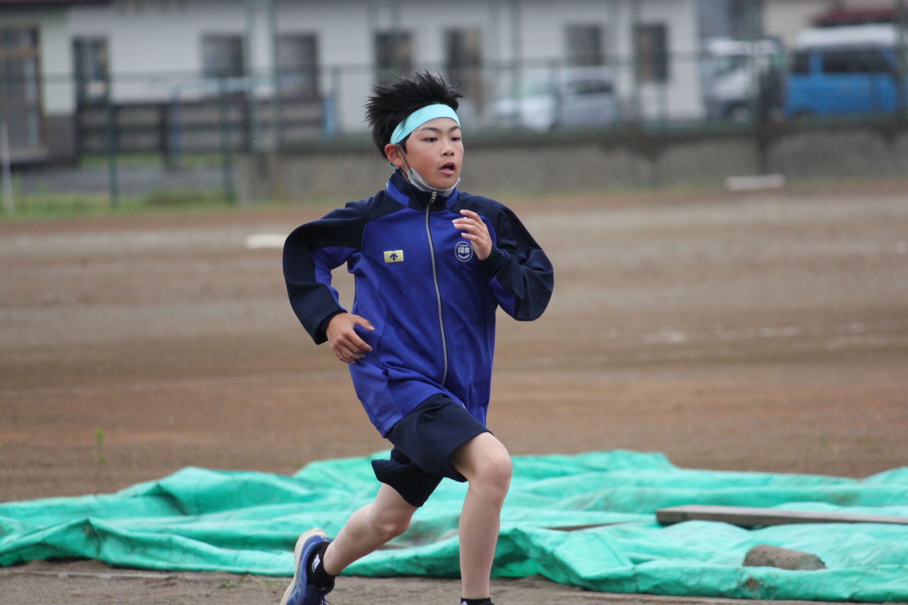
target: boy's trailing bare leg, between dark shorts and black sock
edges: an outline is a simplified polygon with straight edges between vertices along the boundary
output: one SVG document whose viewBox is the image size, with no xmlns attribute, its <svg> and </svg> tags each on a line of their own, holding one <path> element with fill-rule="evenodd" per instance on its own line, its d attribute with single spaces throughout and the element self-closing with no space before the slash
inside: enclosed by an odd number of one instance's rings
<svg viewBox="0 0 908 605">
<path fill-rule="evenodd" d="M 328 545 L 324 556 L 325 571 L 337 575 L 353 561 L 406 532 L 410 518 L 417 510 L 397 490 L 382 483 L 375 502 L 351 514 L 337 538 Z"/>
</svg>

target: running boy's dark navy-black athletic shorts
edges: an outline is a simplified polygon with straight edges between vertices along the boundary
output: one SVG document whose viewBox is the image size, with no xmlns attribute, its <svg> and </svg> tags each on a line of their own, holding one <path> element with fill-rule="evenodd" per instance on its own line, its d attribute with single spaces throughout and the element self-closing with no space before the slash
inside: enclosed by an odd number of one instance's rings
<svg viewBox="0 0 908 605">
<path fill-rule="evenodd" d="M 489 429 L 448 395 L 432 395 L 391 427 L 386 435 L 394 444 L 390 460 L 373 460 L 372 470 L 413 506 L 422 506 L 448 477 L 467 479 L 450 465 L 460 445 Z"/>
</svg>

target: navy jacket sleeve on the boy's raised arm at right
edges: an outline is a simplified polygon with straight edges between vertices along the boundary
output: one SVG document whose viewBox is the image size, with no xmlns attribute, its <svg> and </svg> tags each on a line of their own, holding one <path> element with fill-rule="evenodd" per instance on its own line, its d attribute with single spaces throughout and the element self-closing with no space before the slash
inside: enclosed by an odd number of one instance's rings
<svg viewBox="0 0 908 605">
<path fill-rule="evenodd" d="M 489 278 L 498 306 L 519 321 L 532 321 L 542 315 L 552 297 L 554 268 L 517 215 L 504 206 L 496 214 L 491 220 L 492 251 L 479 266 Z"/>
</svg>

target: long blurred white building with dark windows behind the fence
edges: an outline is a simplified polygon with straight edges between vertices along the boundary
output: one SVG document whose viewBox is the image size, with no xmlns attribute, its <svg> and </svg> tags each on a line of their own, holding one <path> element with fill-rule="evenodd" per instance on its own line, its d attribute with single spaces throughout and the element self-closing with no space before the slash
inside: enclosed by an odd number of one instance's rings
<svg viewBox="0 0 908 605">
<path fill-rule="evenodd" d="M 482 123 L 516 78 L 604 65 L 626 116 L 703 115 L 696 0 L 21 0 L 0 4 L 0 36 L 30 62 L 0 83 L 19 100 L 0 120 L 27 124 L 11 130 L 20 157 L 71 156 L 77 107 L 104 100 L 108 79 L 117 104 L 249 87 L 267 104 L 280 76 L 284 95 L 330 100 L 330 130 L 360 132 L 389 74 L 446 74 Z"/>
</svg>

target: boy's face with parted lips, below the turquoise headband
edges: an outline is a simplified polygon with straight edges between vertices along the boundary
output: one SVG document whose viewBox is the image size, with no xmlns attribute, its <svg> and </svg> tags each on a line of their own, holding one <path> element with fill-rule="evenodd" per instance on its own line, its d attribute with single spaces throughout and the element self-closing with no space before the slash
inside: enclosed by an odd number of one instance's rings
<svg viewBox="0 0 908 605">
<path fill-rule="evenodd" d="M 388 160 L 406 171 L 400 147 L 397 145 L 388 147 L 385 148 Z M 463 165 L 460 127 L 450 118 L 429 120 L 410 132 L 407 151 L 402 157 L 429 185 L 435 189 L 448 189 L 460 178 L 460 169 Z"/>
</svg>

